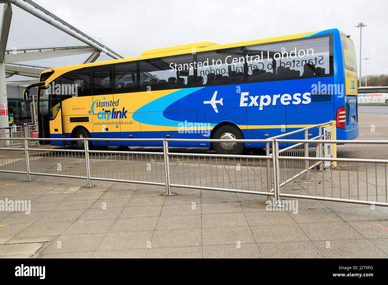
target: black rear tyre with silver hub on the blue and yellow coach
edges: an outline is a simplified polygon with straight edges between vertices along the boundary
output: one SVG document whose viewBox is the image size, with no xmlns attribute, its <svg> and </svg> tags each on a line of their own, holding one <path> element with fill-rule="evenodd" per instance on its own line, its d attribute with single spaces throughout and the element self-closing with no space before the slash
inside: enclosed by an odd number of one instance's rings
<svg viewBox="0 0 388 285">
<path fill-rule="evenodd" d="M 241 131 L 231 125 L 223 125 L 215 131 L 213 139 L 215 140 L 243 140 L 244 136 Z M 244 143 L 222 142 L 213 143 L 214 150 L 217 154 L 242 154 Z"/>
</svg>

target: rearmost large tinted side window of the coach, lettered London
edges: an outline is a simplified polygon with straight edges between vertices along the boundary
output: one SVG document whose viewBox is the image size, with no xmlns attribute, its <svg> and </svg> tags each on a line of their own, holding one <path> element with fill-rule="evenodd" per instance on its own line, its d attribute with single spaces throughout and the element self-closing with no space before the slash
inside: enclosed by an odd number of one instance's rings
<svg viewBox="0 0 388 285">
<path fill-rule="evenodd" d="M 246 47 L 248 80 L 330 73 L 328 37 Z"/>
</svg>

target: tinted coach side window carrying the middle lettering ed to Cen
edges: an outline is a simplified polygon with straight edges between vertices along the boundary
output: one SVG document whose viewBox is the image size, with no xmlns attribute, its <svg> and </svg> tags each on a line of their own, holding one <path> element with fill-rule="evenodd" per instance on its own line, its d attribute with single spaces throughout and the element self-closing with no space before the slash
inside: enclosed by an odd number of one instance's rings
<svg viewBox="0 0 388 285">
<path fill-rule="evenodd" d="M 197 54 L 197 84 L 244 81 L 244 60 L 242 47 Z"/>
</svg>

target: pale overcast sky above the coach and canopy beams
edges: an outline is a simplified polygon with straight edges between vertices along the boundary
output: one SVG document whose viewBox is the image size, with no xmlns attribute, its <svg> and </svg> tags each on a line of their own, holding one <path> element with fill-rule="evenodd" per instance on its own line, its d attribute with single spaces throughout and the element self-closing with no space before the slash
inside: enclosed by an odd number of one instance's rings
<svg viewBox="0 0 388 285">
<path fill-rule="evenodd" d="M 367 72 L 388 73 L 386 0 L 36 2 L 87 35 L 102 40 L 123 57 L 138 56 L 152 48 L 198 41 L 224 44 L 338 28 L 351 35 L 358 66 L 360 28 L 354 26 L 364 22 L 368 26 L 362 29 L 362 58 L 370 58 Z M 18 7 L 13 6 L 13 12 L 7 49 L 85 45 Z M 79 55 L 26 64 L 57 67 L 79 64 L 87 57 Z M 104 56 L 99 61 L 107 59 L 109 57 Z M 365 60 L 362 75 L 365 75 Z"/>
</svg>

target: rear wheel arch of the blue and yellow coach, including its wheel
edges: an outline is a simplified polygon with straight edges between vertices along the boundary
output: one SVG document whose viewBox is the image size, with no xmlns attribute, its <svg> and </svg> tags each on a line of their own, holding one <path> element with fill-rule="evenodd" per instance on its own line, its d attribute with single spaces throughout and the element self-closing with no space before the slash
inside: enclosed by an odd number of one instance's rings
<svg viewBox="0 0 388 285">
<path fill-rule="evenodd" d="M 222 122 L 217 124 L 210 133 L 210 139 L 220 139 L 221 137 L 242 140 L 244 139 L 244 134 L 236 124 Z M 220 143 L 210 143 L 210 146 L 217 154 L 242 154 L 245 149 L 244 143 L 226 144 L 223 147 Z"/>
</svg>

